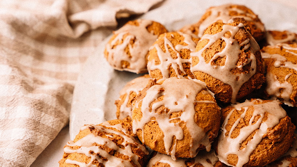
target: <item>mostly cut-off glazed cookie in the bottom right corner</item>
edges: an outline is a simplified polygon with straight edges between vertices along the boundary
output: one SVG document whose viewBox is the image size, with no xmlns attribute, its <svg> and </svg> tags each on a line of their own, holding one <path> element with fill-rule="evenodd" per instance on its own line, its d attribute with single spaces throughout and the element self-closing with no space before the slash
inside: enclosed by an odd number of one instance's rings
<svg viewBox="0 0 297 167">
<path fill-rule="evenodd" d="M 296 167 L 297 166 L 297 140 L 295 139 L 292 147 L 278 160 L 266 165 L 265 167 Z"/>
</svg>

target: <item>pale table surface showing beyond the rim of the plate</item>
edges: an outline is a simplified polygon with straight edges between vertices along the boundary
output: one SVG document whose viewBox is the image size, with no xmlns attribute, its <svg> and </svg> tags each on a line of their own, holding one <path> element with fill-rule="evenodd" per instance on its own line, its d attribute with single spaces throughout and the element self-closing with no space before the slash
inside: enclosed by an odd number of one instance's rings
<svg viewBox="0 0 297 167">
<path fill-rule="evenodd" d="M 296 0 L 271 0 L 284 4 L 297 10 Z M 58 166 L 62 158 L 63 147 L 70 140 L 69 126 L 64 127 L 57 137 L 45 148 L 45 150 L 32 163 L 31 167 L 52 167 Z"/>
</svg>

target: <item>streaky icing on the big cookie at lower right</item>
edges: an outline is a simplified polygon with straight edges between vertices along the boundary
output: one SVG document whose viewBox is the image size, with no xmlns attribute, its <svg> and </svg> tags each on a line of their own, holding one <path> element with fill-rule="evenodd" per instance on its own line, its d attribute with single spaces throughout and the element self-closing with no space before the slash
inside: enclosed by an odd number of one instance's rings
<svg viewBox="0 0 297 167">
<path fill-rule="evenodd" d="M 234 109 L 230 111 L 222 125 L 223 132 L 219 136 L 218 140 L 218 158 L 228 166 L 233 166 L 227 161 L 227 157 L 230 154 L 238 156 L 238 162 L 235 167 L 241 167 L 246 164 L 249 161 L 250 154 L 256 149 L 257 144 L 260 143 L 263 135 L 267 133 L 267 129 L 273 128 L 279 123 L 281 118 L 287 115 L 285 110 L 281 108 L 281 103 L 279 101 L 275 100 L 268 101 L 263 104 L 254 104 L 256 100 L 260 99 L 245 101 L 244 103 L 233 105 Z M 245 117 L 245 114 L 250 106 L 254 107 L 254 112 L 249 124 L 240 129 L 239 135 L 236 138 L 231 138 L 233 130 L 238 126 L 239 121 Z M 232 128 L 230 129 L 230 132 L 228 133 L 228 136 L 226 136 L 226 125 L 228 124 L 230 116 L 235 110 L 240 111 L 241 109 L 244 109 L 244 112 L 235 121 L 235 123 L 232 125 Z M 268 117 L 265 122 L 262 122 L 264 113 L 268 113 Z M 255 117 L 258 115 L 260 115 L 260 118 L 256 123 L 252 124 L 252 122 L 255 120 Z M 254 131 L 256 131 L 256 133 L 253 138 L 247 143 L 245 148 L 240 149 L 242 142 L 246 140 Z"/>
</svg>

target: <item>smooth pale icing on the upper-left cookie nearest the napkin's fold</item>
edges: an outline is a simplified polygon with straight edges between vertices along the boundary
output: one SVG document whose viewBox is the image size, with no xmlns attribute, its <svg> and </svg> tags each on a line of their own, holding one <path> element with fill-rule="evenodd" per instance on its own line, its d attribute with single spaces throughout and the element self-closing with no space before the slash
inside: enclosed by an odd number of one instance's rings
<svg viewBox="0 0 297 167">
<path fill-rule="evenodd" d="M 124 68 L 126 71 L 135 73 L 146 72 L 146 55 L 149 51 L 149 47 L 156 41 L 158 35 L 150 33 L 146 27 L 151 25 L 151 20 L 138 19 L 139 26 L 125 24 L 122 28 L 115 31 L 117 34 L 113 41 L 106 45 L 108 52 L 108 63 L 113 66 L 114 69 L 122 71 L 121 61 L 127 61 L 130 63 L 129 68 Z M 128 34 L 128 35 L 127 35 Z M 127 35 L 123 40 L 124 35 Z M 135 39 L 133 46 L 130 44 L 130 40 Z M 116 42 L 123 40 L 123 43 L 116 45 L 112 48 Z M 126 54 L 125 48 L 129 47 L 131 57 Z"/>
</svg>

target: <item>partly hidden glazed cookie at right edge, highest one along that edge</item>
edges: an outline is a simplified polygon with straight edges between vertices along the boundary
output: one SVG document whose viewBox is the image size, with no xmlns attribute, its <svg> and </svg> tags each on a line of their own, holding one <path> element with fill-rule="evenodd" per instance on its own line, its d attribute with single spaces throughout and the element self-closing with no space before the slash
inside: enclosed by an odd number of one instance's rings
<svg viewBox="0 0 297 167">
<path fill-rule="evenodd" d="M 297 34 L 289 31 L 267 31 L 266 45 L 276 45 L 278 43 L 297 44 Z"/>
</svg>

